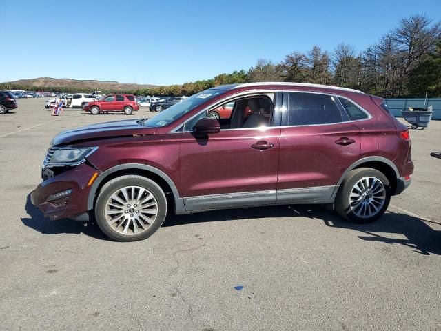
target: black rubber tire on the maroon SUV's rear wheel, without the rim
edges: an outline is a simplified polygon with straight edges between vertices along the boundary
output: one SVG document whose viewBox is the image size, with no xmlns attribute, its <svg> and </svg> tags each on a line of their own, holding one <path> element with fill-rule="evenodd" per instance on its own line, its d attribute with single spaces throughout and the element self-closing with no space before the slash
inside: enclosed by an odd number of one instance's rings
<svg viewBox="0 0 441 331">
<path fill-rule="evenodd" d="M 355 175 L 351 176 L 351 173 L 356 171 Z M 376 219 L 382 217 L 384 212 L 389 207 L 389 202 L 391 200 L 391 187 L 389 184 L 389 180 L 387 177 L 380 171 L 372 168 L 360 168 L 349 172 L 347 180 L 342 183 L 342 187 L 338 191 L 338 197 L 336 201 L 336 209 L 337 212 L 345 219 L 353 222 L 353 223 L 370 223 L 376 221 Z M 349 197 L 352 191 L 352 188 L 362 177 L 376 177 L 380 181 L 382 181 L 384 188 L 386 190 L 386 201 L 384 201 L 384 205 L 380 209 L 380 211 L 375 214 L 373 217 L 363 218 L 358 217 L 350 208 L 349 205 Z"/>
</svg>

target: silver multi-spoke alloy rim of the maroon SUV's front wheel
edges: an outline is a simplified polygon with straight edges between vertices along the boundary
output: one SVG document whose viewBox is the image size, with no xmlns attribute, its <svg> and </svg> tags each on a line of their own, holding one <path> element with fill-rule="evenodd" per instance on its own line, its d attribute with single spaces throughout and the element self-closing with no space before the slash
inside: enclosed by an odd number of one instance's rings
<svg viewBox="0 0 441 331">
<path fill-rule="evenodd" d="M 125 186 L 110 196 L 104 213 L 115 232 L 128 236 L 141 234 L 156 220 L 158 201 L 145 188 Z"/>
</svg>

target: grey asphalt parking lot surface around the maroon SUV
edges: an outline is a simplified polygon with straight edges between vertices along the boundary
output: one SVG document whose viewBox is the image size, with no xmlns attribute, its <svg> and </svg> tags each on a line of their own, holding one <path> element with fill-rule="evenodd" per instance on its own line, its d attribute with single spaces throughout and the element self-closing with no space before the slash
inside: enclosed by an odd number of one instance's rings
<svg viewBox="0 0 441 331">
<path fill-rule="evenodd" d="M 411 130 L 413 183 L 375 223 L 247 208 L 117 243 L 44 219 L 29 194 L 54 134 L 127 116 L 43 108 L 0 116 L 0 330 L 441 330 L 441 121 Z"/>
</svg>

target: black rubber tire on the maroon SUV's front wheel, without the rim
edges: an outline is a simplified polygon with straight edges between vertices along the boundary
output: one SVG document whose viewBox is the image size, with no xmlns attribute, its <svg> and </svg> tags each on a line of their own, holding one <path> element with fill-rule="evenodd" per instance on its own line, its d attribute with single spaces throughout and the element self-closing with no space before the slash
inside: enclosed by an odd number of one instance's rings
<svg viewBox="0 0 441 331">
<path fill-rule="evenodd" d="M 141 234 L 131 236 L 119 234 L 112 230 L 110 225 L 107 224 L 107 220 L 105 219 L 105 203 L 107 203 L 107 200 L 112 194 L 114 194 L 116 190 L 119 190 L 120 188 L 123 188 L 125 186 L 141 186 L 142 188 L 149 190 L 158 202 L 158 214 L 156 215 L 156 220 L 154 221 L 153 225 L 150 226 L 150 228 L 148 228 Z M 101 231 L 103 231 L 104 234 L 107 235 L 107 237 L 110 237 L 111 239 L 114 239 L 116 241 L 139 241 L 147 239 L 152 234 L 154 234 L 154 232 L 156 232 L 158 228 L 161 228 L 161 225 L 165 220 L 165 216 L 167 215 L 167 199 L 165 199 L 165 194 L 163 190 L 151 179 L 147 179 L 141 176 L 128 175 L 112 179 L 112 181 L 109 181 L 109 183 L 106 183 L 103 186 L 101 192 L 99 193 L 98 199 L 96 199 L 94 212 L 96 223 L 98 224 Z"/>
</svg>

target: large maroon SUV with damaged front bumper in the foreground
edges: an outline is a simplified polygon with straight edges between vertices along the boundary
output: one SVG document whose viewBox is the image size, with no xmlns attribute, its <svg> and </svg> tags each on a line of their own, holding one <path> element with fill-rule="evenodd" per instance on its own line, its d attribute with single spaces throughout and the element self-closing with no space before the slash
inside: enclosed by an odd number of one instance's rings
<svg viewBox="0 0 441 331">
<path fill-rule="evenodd" d="M 209 117 L 228 103 L 228 118 Z M 169 210 L 320 203 L 366 223 L 412 173 L 409 131 L 383 99 L 247 83 L 194 94 L 152 119 L 58 134 L 31 197 L 52 219 L 96 219 L 112 239 L 135 241 L 158 230 Z"/>
</svg>

